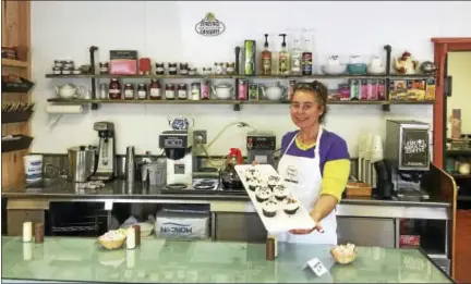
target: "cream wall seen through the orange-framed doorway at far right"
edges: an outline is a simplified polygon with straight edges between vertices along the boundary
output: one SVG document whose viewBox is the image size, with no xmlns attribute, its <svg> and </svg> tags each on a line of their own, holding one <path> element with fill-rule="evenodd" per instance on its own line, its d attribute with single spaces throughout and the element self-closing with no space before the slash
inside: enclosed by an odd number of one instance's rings
<svg viewBox="0 0 471 284">
<path fill-rule="evenodd" d="M 451 97 L 447 100 L 447 114 L 461 109 L 461 133 L 471 133 L 471 52 L 448 53 L 448 75 L 452 76 Z M 448 127 L 451 137 L 451 127 Z"/>
</svg>

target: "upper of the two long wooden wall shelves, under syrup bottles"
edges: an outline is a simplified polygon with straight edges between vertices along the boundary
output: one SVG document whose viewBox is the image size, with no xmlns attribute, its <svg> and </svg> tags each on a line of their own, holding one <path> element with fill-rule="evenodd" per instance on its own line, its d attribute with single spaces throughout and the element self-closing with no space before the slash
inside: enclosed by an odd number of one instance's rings
<svg viewBox="0 0 471 284">
<path fill-rule="evenodd" d="M 253 79 L 362 79 L 362 78 L 434 78 L 434 76 L 427 76 L 423 74 L 415 75 L 350 75 L 350 74 L 340 74 L 340 75 L 307 75 L 307 76 L 295 76 L 295 75 L 256 75 L 256 76 L 244 76 L 244 75 L 99 75 L 99 74 L 80 74 L 80 75 L 56 75 L 56 74 L 46 74 L 47 78 L 161 78 L 161 79 L 172 79 L 172 78 L 253 78 Z"/>
</svg>

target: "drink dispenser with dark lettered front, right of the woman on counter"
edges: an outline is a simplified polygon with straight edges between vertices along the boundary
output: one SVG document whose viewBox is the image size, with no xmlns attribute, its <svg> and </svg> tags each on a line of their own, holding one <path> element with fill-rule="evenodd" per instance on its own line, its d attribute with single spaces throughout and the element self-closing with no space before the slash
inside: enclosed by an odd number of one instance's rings
<svg viewBox="0 0 471 284">
<path fill-rule="evenodd" d="M 385 162 L 401 200 L 426 200 L 421 178 L 428 172 L 431 129 L 418 121 L 387 121 Z"/>
</svg>

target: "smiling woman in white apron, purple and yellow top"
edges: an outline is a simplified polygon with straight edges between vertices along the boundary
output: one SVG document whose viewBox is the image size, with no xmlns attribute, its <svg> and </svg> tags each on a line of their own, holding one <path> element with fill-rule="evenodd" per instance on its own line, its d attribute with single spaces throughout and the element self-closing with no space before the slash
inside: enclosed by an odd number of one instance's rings
<svg viewBox="0 0 471 284">
<path fill-rule="evenodd" d="M 278 239 L 337 245 L 335 207 L 350 174 L 350 157 L 346 141 L 321 126 L 327 113 L 326 86 L 317 81 L 297 85 L 290 112 L 299 131 L 282 137 L 278 173 L 292 184 L 293 194 L 310 211 L 316 227 L 292 230 Z"/>
</svg>

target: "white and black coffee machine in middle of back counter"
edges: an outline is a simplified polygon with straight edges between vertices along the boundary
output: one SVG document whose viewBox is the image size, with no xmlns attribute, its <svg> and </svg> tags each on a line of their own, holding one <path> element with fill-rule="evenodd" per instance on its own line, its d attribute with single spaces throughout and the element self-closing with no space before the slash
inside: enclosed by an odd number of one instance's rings
<svg viewBox="0 0 471 284">
<path fill-rule="evenodd" d="M 165 131 L 159 136 L 159 147 L 167 157 L 167 188 L 183 189 L 193 183 L 193 132 Z"/>
</svg>

